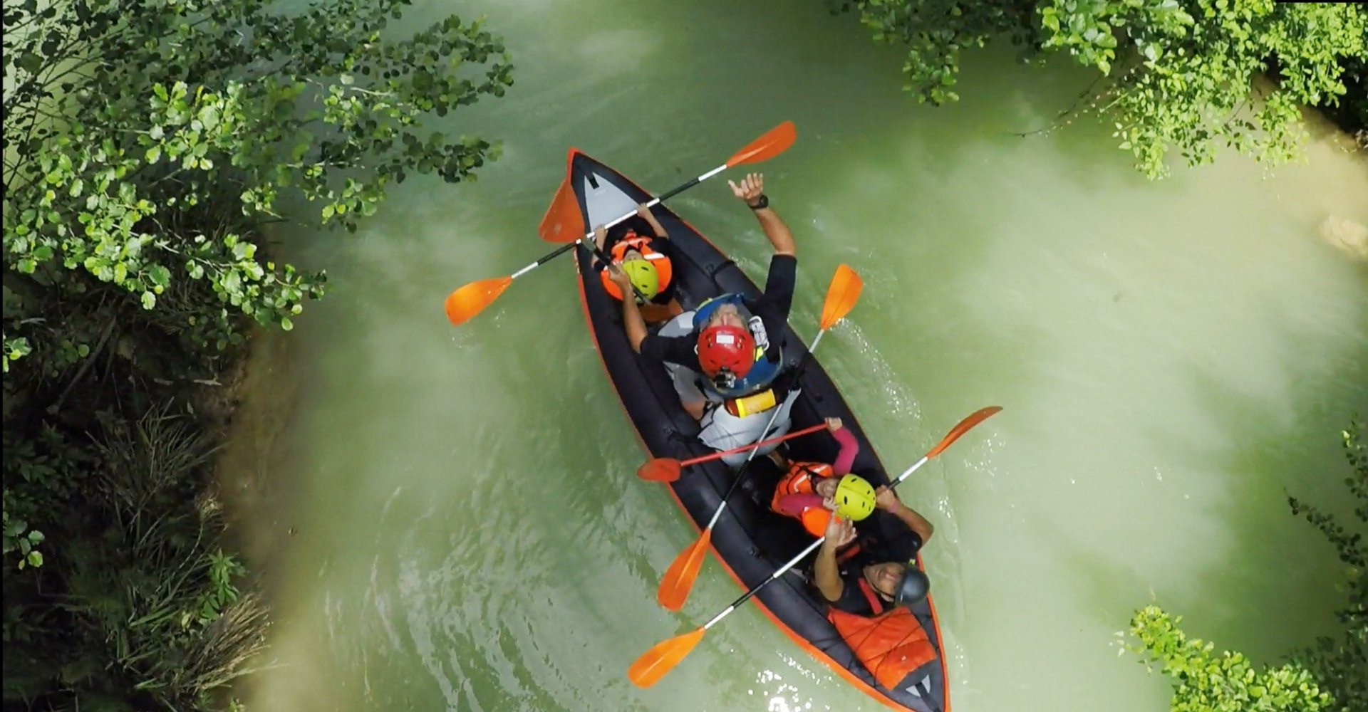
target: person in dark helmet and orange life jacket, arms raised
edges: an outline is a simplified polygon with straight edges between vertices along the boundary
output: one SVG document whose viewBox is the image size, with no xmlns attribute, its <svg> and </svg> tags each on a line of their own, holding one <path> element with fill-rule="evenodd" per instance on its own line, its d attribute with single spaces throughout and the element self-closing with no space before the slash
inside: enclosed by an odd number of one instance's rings
<svg viewBox="0 0 1368 712">
<path fill-rule="evenodd" d="M 813 584 L 829 604 L 828 620 L 874 679 L 925 698 L 940 666 L 912 607 L 930 592 L 915 553 L 930 540 L 933 528 L 886 487 L 878 488 L 877 506 L 897 517 L 907 532 L 885 540 L 880 551 L 856 547 L 852 556 L 839 560 L 837 549 L 855 541 L 856 533 L 850 521 L 832 517 L 813 564 Z M 888 551 L 897 558 L 881 555 Z"/>
</svg>

